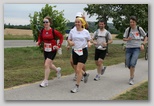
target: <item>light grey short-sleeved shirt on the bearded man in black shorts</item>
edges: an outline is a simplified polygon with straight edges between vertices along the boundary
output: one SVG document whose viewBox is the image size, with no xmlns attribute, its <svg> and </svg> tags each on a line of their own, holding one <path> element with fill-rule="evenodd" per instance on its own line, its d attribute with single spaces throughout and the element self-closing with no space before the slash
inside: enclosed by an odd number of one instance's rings
<svg viewBox="0 0 154 106">
<path fill-rule="evenodd" d="M 103 43 L 106 43 L 106 37 L 108 40 L 112 39 L 111 33 L 109 31 L 107 31 L 106 29 L 104 29 L 103 31 L 100 31 L 100 29 L 98 29 L 94 32 L 93 39 L 96 38 L 97 44 L 95 45 L 95 47 L 97 49 L 104 50 L 103 48 L 98 48 L 98 47 L 99 46 L 103 47 Z"/>
</svg>

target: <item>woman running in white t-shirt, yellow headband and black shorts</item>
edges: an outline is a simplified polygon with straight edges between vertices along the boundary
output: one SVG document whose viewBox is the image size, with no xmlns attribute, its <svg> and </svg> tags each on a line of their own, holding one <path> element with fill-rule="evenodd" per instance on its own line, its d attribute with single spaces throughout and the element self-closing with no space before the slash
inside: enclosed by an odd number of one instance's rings
<svg viewBox="0 0 154 106">
<path fill-rule="evenodd" d="M 91 46 L 90 40 L 90 34 L 89 31 L 82 28 L 83 25 L 83 19 L 82 18 L 76 18 L 75 19 L 75 28 L 71 29 L 69 36 L 68 36 L 68 43 L 70 46 L 72 46 L 72 58 L 73 58 L 73 64 L 74 68 L 77 73 L 77 81 L 75 87 L 71 90 L 72 93 L 76 93 L 79 90 L 79 84 L 84 76 L 84 83 L 88 81 L 89 73 L 86 73 L 83 71 L 83 67 L 85 66 L 85 63 L 88 58 L 88 50 L 86 48 L 86 45 L 88 47 Z"/>
</svg>

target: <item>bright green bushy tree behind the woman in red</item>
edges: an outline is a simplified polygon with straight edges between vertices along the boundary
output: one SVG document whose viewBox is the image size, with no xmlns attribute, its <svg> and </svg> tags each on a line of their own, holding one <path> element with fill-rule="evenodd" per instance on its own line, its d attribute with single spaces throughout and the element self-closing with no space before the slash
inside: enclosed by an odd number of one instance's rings
<svg viewBox="0 0 154 106">
<path fill-rule="evenodd" d="M 43 28 L 43 18 L 46 16 L 51 17 L 52 28 L 57 29 L 62 34 L 65 34 L 68 20 L 64 18 L 64 14 L 63 14 L 64 10 L 59 12 L 57 10 L 54 10 L 53 8 L 56 8 L 56 6 L 52 7 L 46 4 L 45 7 L 41 9 L 41 12 L 34 12 L 33 16 L 31 14 L 29 15 L 34 41 L 38 40 L 38 35 L 39 35 L 38 30 Z"/>
</svg>

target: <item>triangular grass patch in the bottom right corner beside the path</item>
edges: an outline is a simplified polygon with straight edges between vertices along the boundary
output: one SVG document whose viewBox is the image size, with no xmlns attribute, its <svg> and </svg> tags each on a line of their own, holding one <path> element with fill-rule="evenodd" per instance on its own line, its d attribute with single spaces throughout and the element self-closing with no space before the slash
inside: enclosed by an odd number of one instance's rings
<svg viewBox="0 0 154 106">
<path fill-rule="evenodd" d="M 127 91 L 125 94 L 118 96 L 114 100 L 148 100 L 148 82 Z"/>
</svg>

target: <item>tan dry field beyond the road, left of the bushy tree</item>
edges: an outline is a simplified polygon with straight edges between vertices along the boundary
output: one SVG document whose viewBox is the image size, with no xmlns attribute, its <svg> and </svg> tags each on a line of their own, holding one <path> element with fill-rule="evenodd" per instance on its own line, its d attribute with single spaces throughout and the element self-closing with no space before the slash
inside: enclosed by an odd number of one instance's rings
<svg viewBox="0 0 154 106">
<path fill-rule="evenodd" d="M 6 28 L 6 29 L 4 29 L 4 34 L 5 35 L 8 35 L 8 34 L 19 35 L 19 36 L 22 36 L 22 35 L 33 36 L 32 30 L 25 30 L 25 29 L 10 29 L 10 28 Z"/>
</svg>

